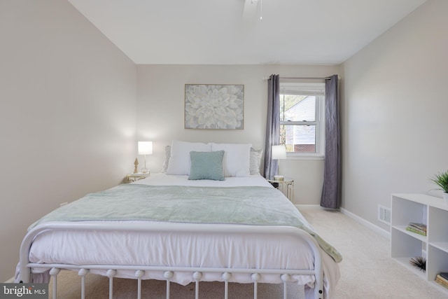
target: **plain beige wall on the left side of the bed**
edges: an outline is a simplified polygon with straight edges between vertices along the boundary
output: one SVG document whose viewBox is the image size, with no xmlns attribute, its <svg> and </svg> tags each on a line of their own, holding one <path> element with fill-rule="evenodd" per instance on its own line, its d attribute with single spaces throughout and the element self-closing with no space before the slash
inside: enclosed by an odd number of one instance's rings
<svg viewBox="0 0 448 299">
<path fill-rule="evenodd" d="M 120 183 L 135 154 L 135 64 L 67 1 L 0 1 L 0 281 L 28 225 Z"/>
</svg>

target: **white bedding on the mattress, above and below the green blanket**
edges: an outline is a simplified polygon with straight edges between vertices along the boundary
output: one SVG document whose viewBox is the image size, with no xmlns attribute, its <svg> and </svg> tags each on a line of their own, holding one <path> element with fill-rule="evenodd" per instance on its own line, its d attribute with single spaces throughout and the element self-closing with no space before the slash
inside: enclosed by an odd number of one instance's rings
<svg viewBox="0 0 448 299">
<path fill-rule="evenodd" d="M 151 174 L 134 183 L 181 186 L 271 186 L 262 176 L 226 178 L 225 181 L 189 181 L 188 176 Z M 84 221 L 86 223 L 87 221 Z M 96 221 L 88 221 L 94 223 Z M 111 221 L 109 221 L 111 222 Z M 115 221 L 112 221 L 115 222 Z M 138 222 L 138 221 L 133 221 Z M 151 221 L 144 221 L 151 223 Z M 169 223 L 168 223 L 169 225 Z M 172 225 L 176 225 L 172 223 Z M 204 224 L 207 225 L 207 224 Z M 225 249 L 225 250 L 223 250 Z M 97 255 L 97 252 L 102 252 Z M 322 253 L 324 289 L 332 293 L 339 279 L 337 264 Z M 264 269 L 303 269 L 313 267 L 313 256 L 306 244 L 283 235 L 194 234 L 161 232 L 43 232 L 31 246 L 32 263 L 69 263 L 74 265 L 167 265 L 188 267 L 249 267 Z M 46 270 L 34 269 L 33 272 Z M 105 274 L 106 270 L 91 270 Z M 135 278 L 133 271 L 118 272 L 118 277 Z M 310 284 L 314 277 L 296 276 L 298 284 Z M 143 279 L 164 279 L 163 272 L 146 272 Z M 204 274 L 205 281 L 220 281 L 221 274 Z M 172 281 L 186 285 L 193 281 L 191 273 L 175 273 Z M 231 281 L 250 283 L 248 275 L 233 275 Z M 280 283 L 278 275 L 263 275 L 262 281 Z M 330 297 L 327 297 L 330 298 Z"/>
</svg>

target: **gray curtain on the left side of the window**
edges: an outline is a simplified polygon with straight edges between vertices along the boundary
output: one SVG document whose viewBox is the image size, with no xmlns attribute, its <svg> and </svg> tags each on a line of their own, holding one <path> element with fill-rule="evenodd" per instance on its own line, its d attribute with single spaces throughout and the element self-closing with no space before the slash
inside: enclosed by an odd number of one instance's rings
<svg viewBox="0 0 448 299">
<path fill-rule="evenodd" d="M 280 78 L 271 75 L 267 80 L 267 120 L 265 139 L 265 177 L 276 175 L 279 160 L 272 160 L 272 146 L 280 142 Z"/>
</svg>

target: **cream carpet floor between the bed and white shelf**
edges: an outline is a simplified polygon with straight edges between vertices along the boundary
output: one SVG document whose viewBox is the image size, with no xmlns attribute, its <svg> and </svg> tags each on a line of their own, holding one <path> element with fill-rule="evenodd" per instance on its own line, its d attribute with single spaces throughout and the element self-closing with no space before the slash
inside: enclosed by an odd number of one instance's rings
<svg viewBox="0 0 448 299">
<path fill-rule="evenodd" d="M 447 293 L 424 281 L 391 258 L 388 238 L 352 218 L 320 207 L 300 207 L 319 235 L 335 246 L 344 260 L 335 298 L 442 299 Z"/>
</svg>

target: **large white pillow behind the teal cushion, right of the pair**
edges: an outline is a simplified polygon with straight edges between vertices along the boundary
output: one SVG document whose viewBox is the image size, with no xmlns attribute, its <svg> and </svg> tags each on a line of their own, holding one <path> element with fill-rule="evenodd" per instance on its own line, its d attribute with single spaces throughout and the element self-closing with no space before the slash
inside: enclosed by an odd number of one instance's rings
<svg viewBox="0 0 448 299">
<path fill-rule="evenodd" d="M 211 144 L 211 151 L 225 151 L 224 176 L 249 176 L 252 144 Z"/>
</svg>

